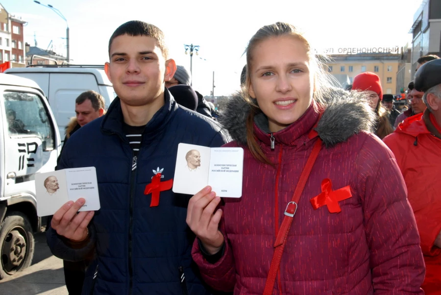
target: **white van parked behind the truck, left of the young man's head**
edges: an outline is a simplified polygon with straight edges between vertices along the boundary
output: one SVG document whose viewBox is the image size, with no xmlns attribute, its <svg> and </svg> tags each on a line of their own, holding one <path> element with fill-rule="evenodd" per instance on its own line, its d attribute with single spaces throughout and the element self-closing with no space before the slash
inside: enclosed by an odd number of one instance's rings
<svg viewBox="0 0 441 295">
<path fill-rule="evenodd" d="M 32 65 L 12 68 L 7 74 L 34 80 L 47 95 L 61 138 L 71 117 L 75 117 L 75 98 L 88 90 L 104 97 L 106 108 L 116 97 L 103 66 L 94 65 Z"/>
</svg>

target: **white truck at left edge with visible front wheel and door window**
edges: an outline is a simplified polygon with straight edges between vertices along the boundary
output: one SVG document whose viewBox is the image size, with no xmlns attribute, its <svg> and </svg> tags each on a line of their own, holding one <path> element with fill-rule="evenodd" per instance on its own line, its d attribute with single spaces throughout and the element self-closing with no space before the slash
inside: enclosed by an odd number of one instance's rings
<svg viewBox="0 0 441 295">
<path fill-rule="evenodd" d="M 0 74 L 0 279 L 28 267 L 37 217 L 34 175 L 55 169 L 60 134 L 48 100 L 32 80 Z"/>
</svg>

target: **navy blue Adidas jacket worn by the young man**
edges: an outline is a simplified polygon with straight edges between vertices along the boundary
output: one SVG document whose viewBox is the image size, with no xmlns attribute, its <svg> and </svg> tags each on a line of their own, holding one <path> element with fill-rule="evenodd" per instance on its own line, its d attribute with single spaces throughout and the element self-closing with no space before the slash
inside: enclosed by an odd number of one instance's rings
<svg viewBox="0 0 441 295">
<path fill-rule="evenodd" d="M 47 238 L 52 253 L 61 259 L 94 256 L 83 295 L 210 294 L 191 257 L 195 236 L 185 221 L 191 196 L 164 191 L 159 206 L 150 207 L 151 194 L 144 195 L 144 190 L 158 167 L 163 169 L 162 181 L 173 178 L 179 143 L 220 147 L 228 141 L 219 123 L 179 106 L 168 90 L 165 105 L 143 133 L 133 172 L 119 98 L 105 116 L 73 134 L 58 168 L 94 166 L 101 209 L 89 225 L 87 245 L 73 247 L 52 228 Z"/>
</svg>

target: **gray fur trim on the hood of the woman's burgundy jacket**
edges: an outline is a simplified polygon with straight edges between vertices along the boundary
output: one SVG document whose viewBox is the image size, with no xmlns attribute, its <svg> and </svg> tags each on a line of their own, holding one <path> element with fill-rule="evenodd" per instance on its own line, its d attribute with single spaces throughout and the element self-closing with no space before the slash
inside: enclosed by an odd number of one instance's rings
<svg viewBox="0 0 441 295">
<path fill-rule="evenodd" d="M 367 100 L 363 92 L 329 89 L 329 95 L 325 98 L 327 106 L 315 128 L 325 146 L 344 142 L 360 131 L 372 132 L 376 116 Z M 238 92 L 228 101 L 219 118 L 233 140 L 241 145 L 246 145 L 245 122 L 250 110 L 243 93 Z"/>
</svg>

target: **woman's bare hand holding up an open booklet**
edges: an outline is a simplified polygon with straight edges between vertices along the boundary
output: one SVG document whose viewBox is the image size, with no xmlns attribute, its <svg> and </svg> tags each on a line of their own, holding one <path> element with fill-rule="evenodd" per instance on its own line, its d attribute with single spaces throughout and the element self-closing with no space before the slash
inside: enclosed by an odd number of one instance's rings
<svg viewBox="0 0 441 295">
<path fill-rule="evenodd" d="M 219 228 L 222 210 L 216 207 L 221 202 L 211 187 L 207 186 L 193 196 L 187 209 L 187 224 L 199 238 L 204 248 L 210 254 L 216 254 L 221 249 L 224 238 Z"/>
</svg>

